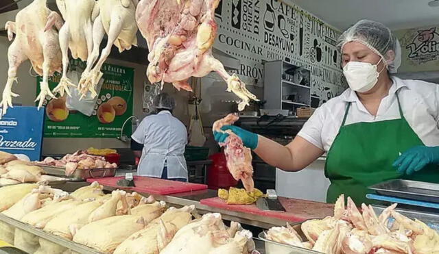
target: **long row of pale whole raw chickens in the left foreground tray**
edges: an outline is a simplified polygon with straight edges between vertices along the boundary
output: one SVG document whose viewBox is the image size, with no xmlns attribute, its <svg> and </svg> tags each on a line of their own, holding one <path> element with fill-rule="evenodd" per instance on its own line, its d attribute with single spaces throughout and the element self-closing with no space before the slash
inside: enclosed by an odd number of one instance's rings
<svg viewBox="0 0 439 254">
<path fill-rule="evenodd" d="M 0 188 L 0 212 L 101 253 L 224 253 L 254 250 L 252 233 L 220 214 L 200 218 L 195 207 L 169 207 L 152 196 L 115 190 L 104 194 L 91 183 L 68 194 L 47 186 Z M 195 217 L 195 219 L 193 219 Z M 69 253 L 68 249 L 0 222 L 0 238 L 27 253 Z"/>
</svg>

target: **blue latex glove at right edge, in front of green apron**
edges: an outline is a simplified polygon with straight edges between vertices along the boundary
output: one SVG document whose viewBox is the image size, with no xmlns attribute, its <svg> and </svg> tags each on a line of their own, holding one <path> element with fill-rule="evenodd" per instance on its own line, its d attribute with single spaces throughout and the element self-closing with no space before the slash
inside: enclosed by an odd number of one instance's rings
<svg viewBox="0 0 439 254">
<path fill-rule="evenodd" d="M 439 147 L 412 147 L 399 156 L 392 166 L 398 168 L 401 174 L 412 175 L 427 164 L 439 164 Z"/>
</svg>

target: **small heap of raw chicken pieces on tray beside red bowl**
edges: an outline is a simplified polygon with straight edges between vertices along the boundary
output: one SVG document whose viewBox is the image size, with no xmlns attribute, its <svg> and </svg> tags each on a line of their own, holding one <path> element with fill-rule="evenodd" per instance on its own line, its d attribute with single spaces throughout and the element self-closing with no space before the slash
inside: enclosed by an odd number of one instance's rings
<svg viewBox="0 0 439 254">
<path fill-rule="evenodd" d="M 76 151 L 73 154 L 67 154 L 60 160 L 52 157 L 46 157 L 42 162 L 36 162 L 42 166 L 57 166 L 66 168 L 66 175 L 71 175 L 76 169 L 89 168 L 117 168 L 117 164 L 110 163 L 102 156 L 90 155 L 86 151 Z"/>
</svg>

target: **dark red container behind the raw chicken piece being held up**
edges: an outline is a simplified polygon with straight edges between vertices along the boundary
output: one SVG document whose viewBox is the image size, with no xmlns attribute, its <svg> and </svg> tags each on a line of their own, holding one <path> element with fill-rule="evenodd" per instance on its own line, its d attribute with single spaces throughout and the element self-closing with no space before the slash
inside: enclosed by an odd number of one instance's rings
<svg viewBox="0 0 439 254">
<path fill-rule="evenodd" d="M 215 153 L 209 156 L 209 160 L 212 160 L 207 174 L 209 189 L 229 188 L 238 184 L 238 181 L 228 171 L 226 155 L 224 153 Z"/>
</svg>

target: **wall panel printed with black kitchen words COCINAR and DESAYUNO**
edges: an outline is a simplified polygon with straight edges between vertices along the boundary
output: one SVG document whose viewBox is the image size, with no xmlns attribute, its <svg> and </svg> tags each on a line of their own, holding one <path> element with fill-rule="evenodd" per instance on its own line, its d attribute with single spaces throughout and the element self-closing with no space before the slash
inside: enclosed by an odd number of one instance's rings
<svg viewBox="0 0 439 254">
<path fill-rule="evenodd" d="M 337 38 L 329 27 L 294 4 L 275 0 L 222 0 L 215 16 L 215 47 L 241 60 L 235 71 L 248 85 L 263 86 L 263 61 L 283 60 L 311 70 L 311 94 L 320 104 L 347 87 Z"/>
</svg>

